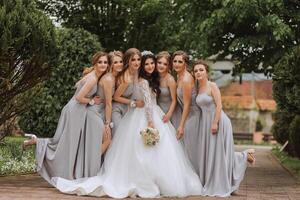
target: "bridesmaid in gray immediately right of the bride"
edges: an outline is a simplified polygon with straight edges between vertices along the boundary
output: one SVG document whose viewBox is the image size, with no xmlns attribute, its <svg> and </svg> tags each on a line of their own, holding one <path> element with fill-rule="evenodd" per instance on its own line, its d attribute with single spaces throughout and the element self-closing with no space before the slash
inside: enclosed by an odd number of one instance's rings
<svg viewBox="0 0 300 200">
<path fill-rule="evenodd" d="M 157 104 L 164 111 L 163 122 L 171 120 L 175 128 L 180 121 L 180 110 L 177 105 L 176 81 L 170 72 L 171 55 L 167 51 L 159 52 L 156 55 L 157 71 L 159 74 L 160 94 Z"/>
</svg>

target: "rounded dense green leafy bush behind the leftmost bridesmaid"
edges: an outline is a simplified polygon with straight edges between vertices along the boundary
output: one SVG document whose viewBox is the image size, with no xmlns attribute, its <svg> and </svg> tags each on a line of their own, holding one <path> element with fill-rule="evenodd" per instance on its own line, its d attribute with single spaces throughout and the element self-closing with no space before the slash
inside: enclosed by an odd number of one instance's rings
<svg viewBox="0 0 300 200">
<path fill-rule="evenodd" d="M 83 29 L 59 29 L 57 32 L 58 65 L 31 99 L 30 109 L 20 115 L 19 125 L 26 132 L 53 136 L 63 106 L 75 92 L 75 83 L 84 67 L 91 65 L 92 55 L 101 50 L 97 36 Z"/>
</svg>

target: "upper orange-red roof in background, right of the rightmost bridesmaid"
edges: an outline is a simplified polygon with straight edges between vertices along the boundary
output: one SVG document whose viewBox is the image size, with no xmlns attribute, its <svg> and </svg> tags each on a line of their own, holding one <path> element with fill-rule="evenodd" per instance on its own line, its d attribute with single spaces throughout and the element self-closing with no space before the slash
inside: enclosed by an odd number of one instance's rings
<svg viewBox="0 0 300 200">
<path fill-rule="evenodd" d="M 273 99 L 272 80 L 254 81 L 253 93 L 256 99 Z M 222 96 L 252 96 L 251 81 L 232 82 L 220 88 Z"/>
</svg>

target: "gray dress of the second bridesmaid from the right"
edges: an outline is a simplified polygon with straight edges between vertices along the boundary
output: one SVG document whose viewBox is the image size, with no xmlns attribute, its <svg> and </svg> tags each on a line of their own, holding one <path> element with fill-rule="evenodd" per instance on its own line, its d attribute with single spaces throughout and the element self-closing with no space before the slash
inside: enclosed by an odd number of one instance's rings
<svg viewBox="0 0 300 200">
<path fill-rule="evenodd" d="M 183 136 L 183 145 L 185 151 L 188 155 L 189 160 L 191 161 L 194 169 L 199 168 L 198 160 L 198 130 L 200 128 L 199 122 L 201 118 L 201 112 L 199 107 L 196 104 L 196 89 L 193 88 L 191 103 L 188 117 L 184 125 L 184 136 Z M 177 102 L 183 110 L 183 91 L 182 88 L 177 88 Z M 181 116 L 180 116 L 181 117 Z"/>
</svg>

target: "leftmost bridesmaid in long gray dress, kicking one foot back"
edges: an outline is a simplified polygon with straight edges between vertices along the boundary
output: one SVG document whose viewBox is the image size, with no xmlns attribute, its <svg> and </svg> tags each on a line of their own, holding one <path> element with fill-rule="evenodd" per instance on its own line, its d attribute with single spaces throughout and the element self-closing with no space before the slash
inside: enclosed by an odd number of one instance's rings
<svg viewBox="0 0 300 200">
<path fill-rule="evenodd" d="M 76 83 L 76 92 L 64 106 L 53 138 L 36 138 L 37 172 L 51 184 L 52 177 L 77 179 L 95 176 L 101 166 L 102 119 L 87 105 L 99 104 L 93 97 L 98 79 L 106 73 L 108 57 L 98 52 L 92 59 L 93 70 Z"/>
</svg>

